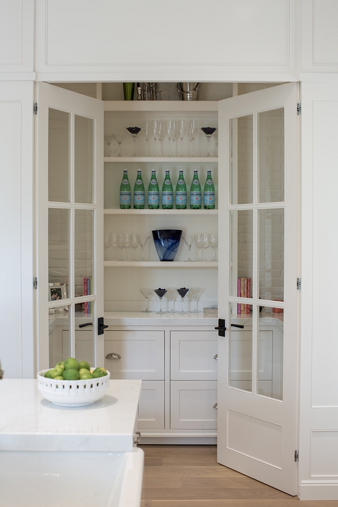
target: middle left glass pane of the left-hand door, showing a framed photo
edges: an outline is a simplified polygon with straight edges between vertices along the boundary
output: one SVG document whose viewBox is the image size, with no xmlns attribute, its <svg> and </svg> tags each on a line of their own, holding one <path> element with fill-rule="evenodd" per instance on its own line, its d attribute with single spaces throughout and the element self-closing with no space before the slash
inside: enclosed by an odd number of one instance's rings
<svg viewBox="0 0 338 507">
<path fill-rule="evenodd" d="M 70 209 L 48 210 L 49 301 L 70 297 L 69 293 Z M 56 287 L 57 286 L 57 287 Z M 52 293 L 53 289 L 57 290 Z"/>
</svg>

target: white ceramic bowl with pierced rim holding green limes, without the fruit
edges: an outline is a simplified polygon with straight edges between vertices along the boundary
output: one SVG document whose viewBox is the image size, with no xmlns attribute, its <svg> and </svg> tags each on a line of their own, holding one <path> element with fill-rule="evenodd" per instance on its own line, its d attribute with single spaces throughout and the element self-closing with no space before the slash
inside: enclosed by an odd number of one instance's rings
<svg viewBox="0 0 338 507">
<path fill-rule="evenodd" d="M 109 388 L 110 372 L 99 378 L 65 381 L 44 377 L 47 370 L 37 374 L 38 389 L 44 398 L 60 407 L 85 407 L 103 398 Z M 91 368 L 93 371 L 94 368 Z"/>
</svg>

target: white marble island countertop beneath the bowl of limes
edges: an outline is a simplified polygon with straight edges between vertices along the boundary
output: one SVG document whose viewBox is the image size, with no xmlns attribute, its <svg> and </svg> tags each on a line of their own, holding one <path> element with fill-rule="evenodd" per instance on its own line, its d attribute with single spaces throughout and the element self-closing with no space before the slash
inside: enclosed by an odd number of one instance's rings
<svg viewBox="0 0 338 507">
<path fill-rule="evenodd" d="M 133 450 L 140 380 L 110 380 L 102 399 L 87 407 L 58 407 L 35 379 L 0 381 L 1 451 Z"/>
</svg>

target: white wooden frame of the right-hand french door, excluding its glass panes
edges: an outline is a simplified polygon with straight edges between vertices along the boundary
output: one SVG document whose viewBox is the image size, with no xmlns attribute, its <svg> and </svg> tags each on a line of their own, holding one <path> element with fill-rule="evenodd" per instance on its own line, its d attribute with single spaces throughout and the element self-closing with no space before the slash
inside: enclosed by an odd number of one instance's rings
<svg viewBox="0 0 338 507">
<path fill-rule="evenodd" d="M 297 448 L 297 379 L 298 379 L 298 299 L 296 280 L 299 276 L 298 266 L 298 237 L 295 217 L 298 213 L 297 174 L 298 174 L 298 138 L 299 117 L 297 115 L 297 101 L 299 101 L 297 85 L 289 83 L 278 87 L 268 88 L 258 92 L 248 93 L 220 102 L 219 106 L 219 136 L 228 139 L 229 118 L 237 118 L 248 114 L 254 114 L 254 181 L 257 181 L 257 151 L 256 151 L 256 125 L 257 112 L 281 108 L 284 105 L 285 117 L 285 202 L 257 203 L 257 184 L 254 185 L 254 204 L 228 205 L 227 200 L 220 200 L 219 216 L 219 278 L 223 281 L 219 286 L 219 316 L 225 318 L 226 326 L 229 327 L 231 320 L 230 302 L 240 302 L 239 298 L 229 297 L 229 274 L 231 266 L 227 256 L 228 238 L 228 210 L 231 209 L 268 209 L 270 207 L 285 208 L 285 260 L 284 260 L 284 385 L 283 401 L 262 396 L 256 392 L 256 380 L 253 392 L 242 391 L 229 386 L 228 371 L 228 333 L 225 338 L 219 337 L 218 345 L 218 461 L 225 466 L 239 470 L 246 475 L 264 481 L 273 487 L 281 489 L 289 494 L 297 493 L 296 467 L 294 463 L 294 450 Z M 219 146 L 219 179 L 220 187 L 224 189 L 224 195 L 230 196 L 228 189 L 228 143 L 223 142 Z M 258 315 L 260 301 L 257 280 L 259 269 L 256 264 L 257 246 L 256 228 L 254 224 L 254 277 L 252 278 L 252 378 L 259 379 L 257 368 L 257 355 L 259 350 Z M 266 306 L 273 306 L 267 302 Z M 236 315 L 233 315 L 233 319 Z M 236 319 L 237 321 L 237 319 Z M 238 321 L 239 322 L 239 321 Z M 233 322 L 234 323 L 234 322 Z M 233 329 L 231 330 L 233 334 Z M 264 361 L 263 361 L 264 363 Z M 260 365 L 259 365 L 260 367 Z M 264 369 L 264 368 L 263 368 Z M 242 449 L 246 447 L 248 452 L 230 450 L 228 432 L 228 410 L 245 414 L 246 426 L 251 421 L 252 431 L 241 431 Z M 251 433 L 255 435 L 255 420 L 262 419 L 267 425 L 278 425 L 282 429 L 281 462 L 283 466 L 278 468 L 276 463 L 264 461 L 261 456 L 259 439 L 251 439 Z M 275 426 L 273 426 L 274 428 Z M 244 426 L 242 427 L 244 431 Z M 279 445 L 280 433 L 272 432 L 276 438 L 276 446 Z M 238 438 L 240 438 L 238 436 Z M 273 438 L 273 436 L 271 436 Z M 252 440 L 254 443 L 252 444 Z M 252 445 L 256 446 L 256 454 L 252 451 Z M 295 447 L 296 446 L 296 447 Z M 250 450 L 251 449 L 251 450 Z M 249 451 L 250 450 L 250 451 Z M 269 464 L 270 463 L 270 464 Z"/>
</svg>

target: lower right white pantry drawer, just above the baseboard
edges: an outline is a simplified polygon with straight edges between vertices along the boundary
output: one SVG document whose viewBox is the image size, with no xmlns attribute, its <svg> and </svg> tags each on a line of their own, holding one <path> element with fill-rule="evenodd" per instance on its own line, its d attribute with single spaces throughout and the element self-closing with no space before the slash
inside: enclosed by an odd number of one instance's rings
<svg viewBox="0 0 338 507">
<path fill-rule="evenodd" d="M 172 381 L 172 429 L 215 430 L 217 428 L 216 381 Z"/>
</svg>

